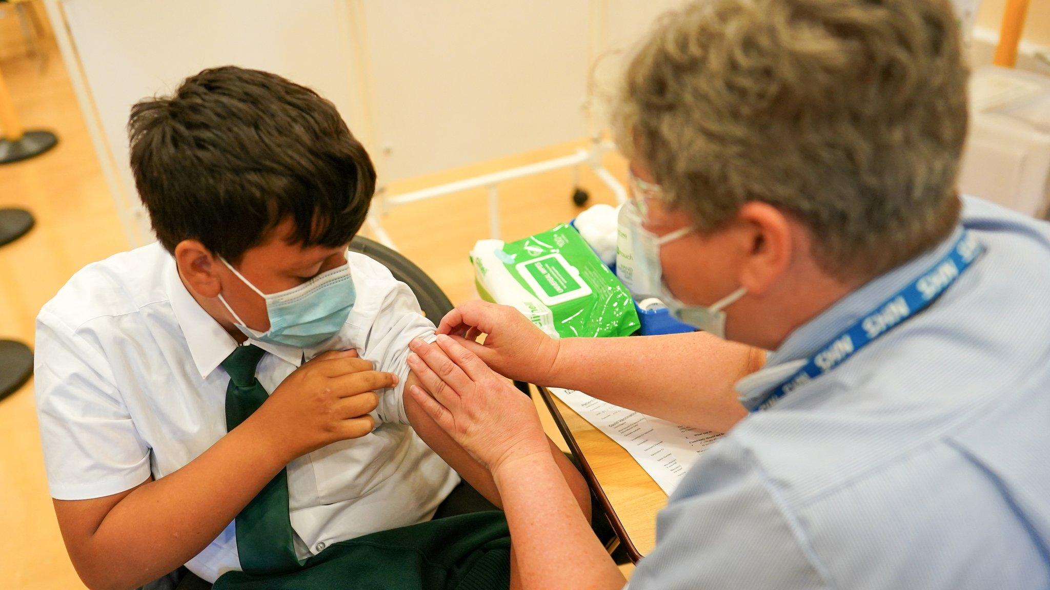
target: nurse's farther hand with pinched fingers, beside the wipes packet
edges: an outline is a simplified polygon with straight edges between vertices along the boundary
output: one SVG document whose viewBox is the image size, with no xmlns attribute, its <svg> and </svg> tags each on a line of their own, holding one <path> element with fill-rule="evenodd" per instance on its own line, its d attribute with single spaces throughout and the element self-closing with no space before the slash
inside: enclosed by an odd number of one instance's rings
<svg viewBox="0 0 1050 590">
<path fill-rule="evenodd" d="M 467 301 L 448 312 L 438 334 L 449 335 L 501 375 L 537 385 L 548 384 L 558 359 L 559 340 L 509 305 Z M 485 342 L 475 341 L 485 335 Z"/>
</svg>

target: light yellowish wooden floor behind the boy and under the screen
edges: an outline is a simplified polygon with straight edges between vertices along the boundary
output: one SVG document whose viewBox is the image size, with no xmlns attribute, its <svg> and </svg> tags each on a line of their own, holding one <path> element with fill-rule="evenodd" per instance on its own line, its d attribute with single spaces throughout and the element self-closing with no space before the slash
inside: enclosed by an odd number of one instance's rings
<svg viewBox="0 0 1050 590">
<path fill-rule="evenodd" d="M 72 273 L 129 247 L 66 71 L 57 50 L 52 47 L 51 51 L 43 72 L 36 61 L 20 52 L 0 56 L 0 68 L 23 125 L 51 129 L 60 138 L 59 146 L 45 155 L 0 167 L 0 207 L 23 207 L 37 217 L 37 227 L 28 235 L 0 248 L 0 338 L 30 343 L 38 310 Z M 572 148 L 555 146 L 396 183 L 391 190 L 397 193 L 566 155 Z M 607 160 L 613 173 L 623 178 L 623 159 L 609 155 Z M 592 202 L 613 203 L 611 192 L 589 171 L 584 171 L 582 184 L 591 191 Z M 579 210 L 570 203 L 570 192 L 568 170 L 501 187 L 504 238 L 523 237 L 573 217 Z M 434 277 L 454 302 L 475 296 L 467 251 L 477 239 L 488 237 L 483 191 L 396 209 L 386 216 L 385 226 L 400 250 Z M 547 424 L 548 431 L 560 438 Z M 0 524 L 4 529 L 0 588 L 83 588 L 69 565 L 47 494 L 32 381 L 0 402 Z"/>
</svg>

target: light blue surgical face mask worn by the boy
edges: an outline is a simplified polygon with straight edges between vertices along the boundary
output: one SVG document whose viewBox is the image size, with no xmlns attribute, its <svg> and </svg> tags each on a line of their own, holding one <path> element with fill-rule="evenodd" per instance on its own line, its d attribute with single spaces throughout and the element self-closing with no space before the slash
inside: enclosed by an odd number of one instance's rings
<svg viewBox="0 0 1050 590">
<path fill-rule="evenodd" d="M 307 282 L 278 293 L 262 293 L 225 259 L 223 264 L 245 285 L 266 299 L 270 330 L 248 328 L 219 293 L 218 300 L 237 321 L 236 326 L 249 338 L 272 344 L 307 349 L 335 336 L 354 309 L 357 292 L 350 276 L 350 264 L 326 271 Z"/>
</svg>

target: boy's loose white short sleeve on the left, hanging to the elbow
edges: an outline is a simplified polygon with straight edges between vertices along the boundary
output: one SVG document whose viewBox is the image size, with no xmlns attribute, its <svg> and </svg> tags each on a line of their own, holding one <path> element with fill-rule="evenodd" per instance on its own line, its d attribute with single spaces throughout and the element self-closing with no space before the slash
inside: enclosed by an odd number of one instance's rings
<svg viewBox="0 0 1050 590">
<path fill-rule="evenodd" d="M 101 352 L 42 311 L 37 318 L 36 401 L 50 494 L 102 498 L 150 476 L 143 442 Z"/>
</svg>

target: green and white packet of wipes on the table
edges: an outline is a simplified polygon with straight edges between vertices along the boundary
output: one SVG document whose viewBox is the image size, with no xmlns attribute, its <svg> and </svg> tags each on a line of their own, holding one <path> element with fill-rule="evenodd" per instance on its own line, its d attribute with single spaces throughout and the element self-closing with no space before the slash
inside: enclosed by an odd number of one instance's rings
<svg viewBox="0 0 1050 590">
<path fill-rule="evenodd" d="M 568 224 L 470 251 L 482 299 L 511 305 L 558 337 L 627 336 L 638 329 L 631 294 Z"/>
</svg>

